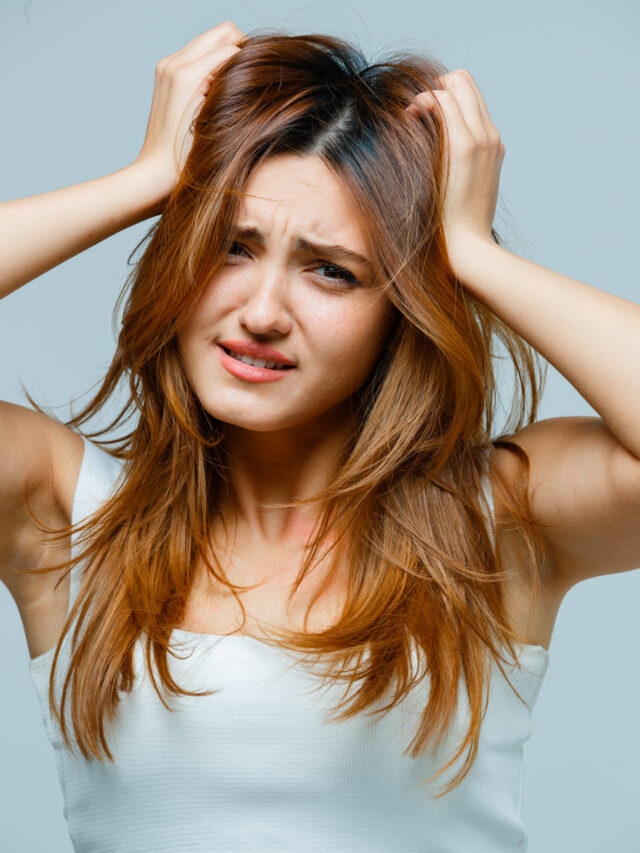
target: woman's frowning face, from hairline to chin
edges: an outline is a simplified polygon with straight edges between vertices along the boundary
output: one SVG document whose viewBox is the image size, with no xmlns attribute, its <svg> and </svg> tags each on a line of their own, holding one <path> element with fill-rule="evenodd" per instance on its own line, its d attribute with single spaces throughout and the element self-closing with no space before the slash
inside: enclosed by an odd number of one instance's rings
<svg viewBox="0 0 640 853">
<path fill-rule="evenodd" d="M 189 381 L 207 412 L 244 429 L 285 429 L 320 415 L 332 422 L 331 410 L 370 376 L 395 317 L 371 287 L 349 198 L 318 157 L 278 155 L 252 175 L 235 225 L 224 267 L 178 336 Z M 225 341 L 266 344 L 295 367 L 253 370 L 277 377 L 250 381 Z"/>
</svg>

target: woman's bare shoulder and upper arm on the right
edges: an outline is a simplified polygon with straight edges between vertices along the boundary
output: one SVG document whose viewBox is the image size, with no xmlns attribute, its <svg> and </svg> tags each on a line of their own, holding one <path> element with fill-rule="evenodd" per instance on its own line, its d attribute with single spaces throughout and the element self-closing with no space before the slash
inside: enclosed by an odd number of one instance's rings
<svg viewBox="0 0 640 853">
<path fill-rule="evenodd" d="M 567 591 L 588 578 L 640 566 L 640 459 L 599 417 L 536 421 L 509 437 L 530 461 L 529 498 L 554 583 Z M 496 452 L 501 472 L 515 460 Z M 498 489 L 499 491 L 499 489 Z M 496 495 L 496 514 L 504 513 Z"/>
</svg>

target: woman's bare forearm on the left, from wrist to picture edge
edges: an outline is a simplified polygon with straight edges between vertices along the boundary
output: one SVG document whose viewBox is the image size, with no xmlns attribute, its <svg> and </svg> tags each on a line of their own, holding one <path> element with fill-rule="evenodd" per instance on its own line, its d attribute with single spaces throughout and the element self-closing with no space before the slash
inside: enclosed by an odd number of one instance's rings
<svg viewBox="0 0 640 853">
<path fill-rule="evenodd" d="M 112 234 L 160 213 L 163 192 L 137 164 L 0 204 L 0 299 Z"/>
</svg>

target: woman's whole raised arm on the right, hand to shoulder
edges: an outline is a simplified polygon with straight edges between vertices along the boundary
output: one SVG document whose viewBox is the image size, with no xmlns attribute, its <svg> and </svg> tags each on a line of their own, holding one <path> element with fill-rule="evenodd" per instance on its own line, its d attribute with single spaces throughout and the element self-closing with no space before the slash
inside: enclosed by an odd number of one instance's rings
<svg viewBox="0 0 640 853">
<path fill-rule="evenodd" d="M 418 95 L 409 112 L 439 110 L 444 121 L 450 177 L 443 227 L 452 270 L 599 415 L 547 418 L 510 436 L 529 456 L 529 497 L 553 582 L 566 591 L 639 568 L 640 305 L 492 241 L 504 146 L 469 72 L 458 69 L 441 82 L 443 89 Z M 503 448 L 496 461 L 507 477 L 518 474 Z"/>
</svg>

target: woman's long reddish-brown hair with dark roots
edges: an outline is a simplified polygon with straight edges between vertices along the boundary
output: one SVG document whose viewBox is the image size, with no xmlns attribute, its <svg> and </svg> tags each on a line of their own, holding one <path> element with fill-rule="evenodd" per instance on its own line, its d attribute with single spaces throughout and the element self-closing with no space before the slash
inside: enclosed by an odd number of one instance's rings
<svg viewBox="0 0 640 853">
<path fill-rule="evenodd" d="M 123 437 L 96 440 L 123 461 L 119 486 L 83 523 L 57 531 L 40 525 L 57 539 L 73 532 L 84 546 L 39 571 L 64 570 L 61 582 L 74 564 L 85 563 L 49 685 L 51 711 L 70 749 L 64 708 L 71 702 L 85 758 L 102 761 L 104 750 L 113 761 L 104 723 L 114 719 L 120 694 L 132 689 L 138 638 L 144 638 L 145 663 L 165 707 L 152 660 L 164 692 L 213 692 L 184 690 L 167 659 L 198 555 L 245 613 L 238 590 L 246 587 L 225 576 L 208 535 L 220 496 L 231 487 L 225 424 L 203 409 L 190 386 L 177 334 L 225 262 L 252 172 L 288 153 L 320 157 L 348 192 L 373 247 L 375 287 L 391 301 L 396 323 L 354 395 L 357 427 L 327 488 L 307 501 L 270 504 L 319 502 L 319 522 L 289 600 L 331 540 L 326 584 L 340 566 L 348 568 L 340 617 L 322 631 L 273 631 L 266 642 L 324 661 L 323 678 L 347 681 L 352 701 L 336 706 L 337 719 L 363 712 L 393 688 L 382 711 L 391 710 L 428 675 L 428 704 L 407 747 L 412 757 L 438 749 L 463 675 L 469 729 L 429 781 L 466 752 L 442 796 L 471 768 L 492 661 L 505 674 L 505 653 L 513 660 L 514 642 L 522 641 L 503 601 L 510 570 L 482 490 L 485 454 L 501 446 L 518 460 L 522 487 L 511 487 L 491 457 L 489 473 L 527 543 L 534 603 L 542 552 L 525 487 L 529 460 L 508 434 L 535 420 L 544 377 L 535 351 L 461 287 L 447 258 L 442 115 L 416 120 L 405 114 L 415 95 L 436 87 L 443 73 L 443 65 L 422 55 L 397 52 L 368 64 L 340 38 L 272 32 L 247 37 L 217 71 L 192 123 L 193 144 L 179 181 L 134 250 L 144 246 L 116 303 L 118 311 L 126 295 L 113 360 L 90 403 L 63 421 L 78 428 L 126 378 L 126 405 L 104 429 L 84 433 L 97 439 L 137 416 Z M 492 236 L 500 242 L 495 231 Z M 497 345 L 516 381 L 507 429 L 492 438 Z M 54 673 L 74 620 L 58 710 Z M 411 663 L 416 647 L 424 652 L 421 672 Z"/>
</svg>

